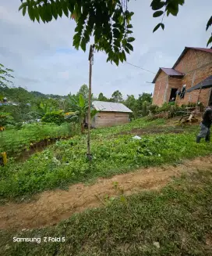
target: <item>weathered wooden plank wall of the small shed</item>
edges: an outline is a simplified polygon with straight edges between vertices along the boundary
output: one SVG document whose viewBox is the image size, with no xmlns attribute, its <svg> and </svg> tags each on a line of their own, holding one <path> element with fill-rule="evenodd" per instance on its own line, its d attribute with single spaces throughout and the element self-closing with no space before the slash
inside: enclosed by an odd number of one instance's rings
<svg viewBox="0 0 212 256">
<path fill-rule="evenodd" d="M 122 112 L 99 112 L 92 120 L 92 126 L 95 128 L 110 127 L 126 123 L 129 123 L 129 113 Z"/>
</svg>

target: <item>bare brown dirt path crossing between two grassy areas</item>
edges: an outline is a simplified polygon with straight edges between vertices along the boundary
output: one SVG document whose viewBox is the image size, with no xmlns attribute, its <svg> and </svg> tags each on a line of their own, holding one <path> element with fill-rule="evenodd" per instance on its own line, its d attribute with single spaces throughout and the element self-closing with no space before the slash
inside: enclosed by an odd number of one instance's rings
<svg viewBox="0 0 212 256">
<path fill-rule="evenodd" d="M 192 172 L 197 168 L 212 170 L 211 163 L 211 156 L 199 157 L 195 160 L 186 160 L 177 167 L 167 165 L 163 168 L 140 169 L 112 178 L 100 178 L 91 186 L 80 183 L 70 186 L 68 191 L 47 191 L 30 203 L 5 204 L 0 206 L 0 229 L 32 229 L 53 225 L 69 218 L 73 213 L 103 205 L 106 195 L 118 196 L 121 192 L 115 188 L 115 182 L 118 182 L 118 187 L 122 188 L 125 195 L 130 195 L 145 189 L 160 189 L 173 176 L 185 171 Z"/>
</svg>

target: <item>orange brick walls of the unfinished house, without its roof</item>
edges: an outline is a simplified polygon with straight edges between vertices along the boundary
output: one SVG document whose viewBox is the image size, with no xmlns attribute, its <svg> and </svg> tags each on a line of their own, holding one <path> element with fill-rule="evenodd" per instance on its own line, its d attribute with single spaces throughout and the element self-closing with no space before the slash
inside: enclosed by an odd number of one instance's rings
<svg viewBox="0 0 212 256">
<path fill-rule="evenodd" d="M 189 49 L 175 67 L 175 70 L 185 73 L 185 77 L 182 79 L 168 78 L 168 75 L 162 71 L 155 83 L 153 104 L 161 106 L 164 100 L 168 102 L 171 88 L 182 88 L 182 85 L 186 85 L 186 89 L 189 89 L 209 77 L 212 74 L 212 54 Z M 177 99 L 178 105 L 188 104 L 189 102 L 196 103 L 199 93 L 200 90 L 185 93 L 184 99 Z M 203 89 L 200 94 L 200 102 L 207 106 L 209 97 L 210 89 Z"/>
</svg>

